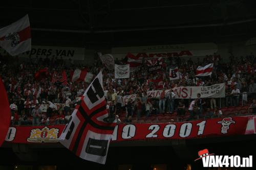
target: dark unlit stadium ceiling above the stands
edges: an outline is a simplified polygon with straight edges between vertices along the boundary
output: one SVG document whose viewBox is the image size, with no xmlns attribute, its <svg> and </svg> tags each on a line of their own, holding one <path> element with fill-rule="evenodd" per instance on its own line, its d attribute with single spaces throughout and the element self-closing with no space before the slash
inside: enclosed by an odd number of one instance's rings
<svg viewBox="0 0 256 170">
<path fill-rule="evenodd" d="M 0 26 L 28 13 L 36 45 L 220 42 L 255 36 L 255 7 L 254 0 L 3 0 Z"/>
</svg>

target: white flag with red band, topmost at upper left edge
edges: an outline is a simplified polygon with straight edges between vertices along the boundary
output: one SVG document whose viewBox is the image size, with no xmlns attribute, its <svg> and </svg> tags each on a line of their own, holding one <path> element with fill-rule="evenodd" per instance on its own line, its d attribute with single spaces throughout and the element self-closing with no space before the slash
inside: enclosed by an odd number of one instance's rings
<svg viewBox="0 0 256 170">
<path fill-rule="evenodd" d="M 31 50 L 31 33 L 28 15 L 0 29 L 0 46 L 12 56 Z"/>
</svg>

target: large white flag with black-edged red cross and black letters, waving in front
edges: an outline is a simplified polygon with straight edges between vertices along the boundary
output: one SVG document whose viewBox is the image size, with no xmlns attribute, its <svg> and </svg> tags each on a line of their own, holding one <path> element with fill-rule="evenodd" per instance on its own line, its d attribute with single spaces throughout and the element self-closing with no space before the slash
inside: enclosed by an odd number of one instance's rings
<svg viewBox="0 0 256 170">
<path fill-rule="evenodd" d="M 108 117 L 102 72 L 90 84 L 59 137 L 60 142 L 82 159 L 105 164 L 115 124 Z"/>
</svg>

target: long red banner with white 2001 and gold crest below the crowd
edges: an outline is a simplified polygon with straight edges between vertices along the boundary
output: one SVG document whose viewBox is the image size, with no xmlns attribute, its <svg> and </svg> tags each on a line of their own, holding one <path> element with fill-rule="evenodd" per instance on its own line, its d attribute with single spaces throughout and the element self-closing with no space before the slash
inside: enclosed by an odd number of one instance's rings
<svg viewBox="0 0 256 170">
<path fill-rule="evenodd" d="M 180 123 L 119 124 L 114 130 L 112 142 L 243 135 L 247 122 L 246 116 L 234 116 Z M 15 143 L 55 143 L 64 128 L 65 125 L 12 126 L 5 140 Z"/>
</svg>

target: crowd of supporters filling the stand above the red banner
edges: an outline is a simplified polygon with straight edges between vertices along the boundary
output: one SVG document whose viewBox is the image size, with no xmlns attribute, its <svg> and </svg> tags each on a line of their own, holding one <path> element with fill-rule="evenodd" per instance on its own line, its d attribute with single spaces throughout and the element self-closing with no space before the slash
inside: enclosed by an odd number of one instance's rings
<svg viewBox="0 0 256 170">
<path fill-rule="evenodd" d="M 217 54 L 197 58 L 196 61 L 170 57 L 165 58 L 161 69 L 156 71 L 148 71 L 143 60 L 127 79 L 115 79 L 114 70 L 106 69 L 99 59 L 95 59 L 92 66 L 74 65 L 72 60 L 56 57 L 21 60 L 18 57 L 0 56 L 0 62 L 0 76 L 8 93 L 12 123 L 19 125 L 65 124 L 89 85 L 86 82 L 70 81 L 70 72 L 76 68 L 87 69 L 94 75 L 102 69 L 109 115 L 117 117 L 125 113 L 121 122 L 163 113 L 179 116 L 188 112 L 188 119 L 220 116 L 221 107 L 240 106 L 242 103 L 247 105 L 255 98 L 256 92 L 256 58 L 253 54 L 245 57 L 230 54 L 229 62 L 226 63 Z M 126 62 L 126 59 L 115 60 L 116 64 Z M 214 63 L 212 75 L 195 77 L 197 67 L 209 63 Z M 179 68 L 180 79 L 170 81 L 168 70 L 174 66 Z M 47 74 L 35 79 L 35 73 L 42 68 L 47 68 Z M 51 74 L 63 70 L 67 73 L 67 84 L 52 83 Z M 155 83 L 148 80 L 159 81 Z M 217 83 L 225 83 L 226 98 L 202 99 L 198 94 L 195 100 L 176 99 L 173 91 L 164 93 L 165 89 L 179 86 L 210 86 Z M 149 90 L 162 90 L 160 99 L 148 96 Z M 135 100 L 125 104 L 123 96 L 131 94 L 136 94 Z"/>
</svg>

